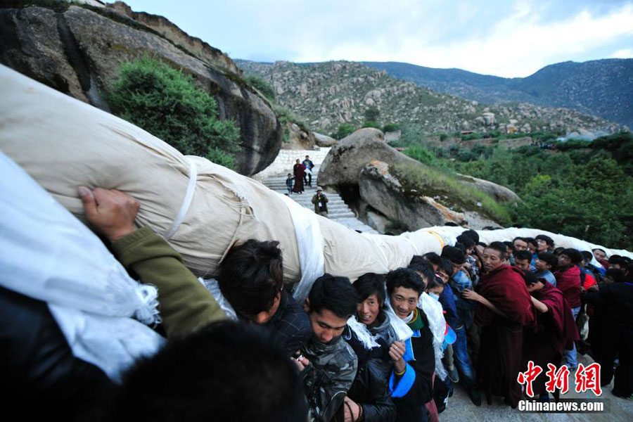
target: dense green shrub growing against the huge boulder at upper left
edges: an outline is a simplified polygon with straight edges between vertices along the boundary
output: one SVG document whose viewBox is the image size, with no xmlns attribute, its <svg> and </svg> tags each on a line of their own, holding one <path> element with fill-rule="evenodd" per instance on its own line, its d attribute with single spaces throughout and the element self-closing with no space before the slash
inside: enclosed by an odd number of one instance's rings
<svg viewBox="0 0 633 422">
<path fill-rule="evenodd" d="M 115 115 L 184 155 L 221 160 L 222 165 L 235 167 L 239 129 L 233 122 L 217 119 L 215 99 L 181 70 L 148 57 L 124 63 L 120 77 L 106 92 L 106 101 Z"/>
</svg>

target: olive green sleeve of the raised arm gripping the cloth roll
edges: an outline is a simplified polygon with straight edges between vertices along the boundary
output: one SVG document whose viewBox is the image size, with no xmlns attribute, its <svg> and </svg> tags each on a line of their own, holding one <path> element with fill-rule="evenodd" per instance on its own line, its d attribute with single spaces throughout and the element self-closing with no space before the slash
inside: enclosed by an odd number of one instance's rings
<svg viewBox="0 0 633 422">
<path fill-rule="evenodd" d="M 151 228 L 143 227 L 112 243 L 118 260 L 158 288 L 160 317 L 168 338 L 182 337 L 226 319 L 211 293 L 185 267 L 180 254 Z"/>
</svg>

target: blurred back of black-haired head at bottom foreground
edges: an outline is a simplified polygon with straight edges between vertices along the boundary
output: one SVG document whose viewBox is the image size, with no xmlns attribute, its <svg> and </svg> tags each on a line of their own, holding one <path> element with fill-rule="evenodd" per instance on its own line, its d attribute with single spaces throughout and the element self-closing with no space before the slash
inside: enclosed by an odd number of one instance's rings
<svg viewBox="0 0 633 422">
<path fill-rule="evenodd" d="M 232 321 L 170 340 L 127 373 L 104 421 L 305 421 L 300 376 L 269 333 Z"/>
</svg>

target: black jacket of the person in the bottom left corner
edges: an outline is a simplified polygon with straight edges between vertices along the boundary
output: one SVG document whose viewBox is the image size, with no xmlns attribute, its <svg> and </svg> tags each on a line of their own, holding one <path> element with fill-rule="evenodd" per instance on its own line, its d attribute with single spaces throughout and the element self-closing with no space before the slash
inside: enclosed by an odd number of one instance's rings
<svg viewBox="0 0 633 422">
<path fill-rule="evenodd" d="M 101 369 L 73 356 L 46 302 L 0 287 L 0 395 L 5 414 L 83 418 L 113 389 Z"/>
</svg>

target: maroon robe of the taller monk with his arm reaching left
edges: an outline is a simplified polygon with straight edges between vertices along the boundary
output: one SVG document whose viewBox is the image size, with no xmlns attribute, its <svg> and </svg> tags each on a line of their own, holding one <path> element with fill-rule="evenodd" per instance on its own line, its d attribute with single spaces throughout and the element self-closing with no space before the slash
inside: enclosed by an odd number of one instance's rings
<svg viewBox="0 0 633 422">
<path fill-rule="evenodd" d="M 489 403 L 497 395 L 516 407 L 521 397 L 516 378 L 521 371 L 523 328 L 534 322 L 534 305 L 520 270 L 506 264 L 481 276 L 479 294 L 508 317 L 483 305 L 475 309 L 475 323 L 482 327 L 478 382 Z"/>
</svg>

